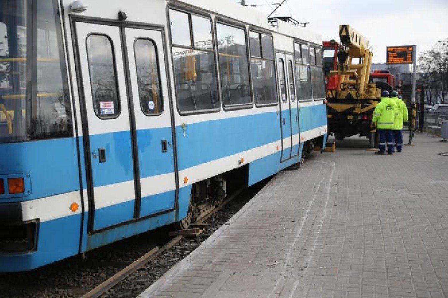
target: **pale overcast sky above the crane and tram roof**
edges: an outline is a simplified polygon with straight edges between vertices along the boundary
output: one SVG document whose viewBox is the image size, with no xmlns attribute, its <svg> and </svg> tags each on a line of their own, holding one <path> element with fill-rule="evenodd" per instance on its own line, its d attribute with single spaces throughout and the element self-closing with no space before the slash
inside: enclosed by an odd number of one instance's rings
<svg viewBox="0 0 448 298">
<path fill-rule="evenodd" d="M 276 5 L 271 8 L 267 3 L 281 1 L 246 0 L 246 4 L 261 4 L 253 9 L 269 14 Z M 306 28 L 322 34 L 323 40 L 339 41 L 339 25 L 352 25 L 369 39 L 374 63 L 385 62 L 386 46 L 416 44 L 419 54 L 448 38 L 448 0 L 287 0 L 277 12 L 310 22 Z"/>
</svg>

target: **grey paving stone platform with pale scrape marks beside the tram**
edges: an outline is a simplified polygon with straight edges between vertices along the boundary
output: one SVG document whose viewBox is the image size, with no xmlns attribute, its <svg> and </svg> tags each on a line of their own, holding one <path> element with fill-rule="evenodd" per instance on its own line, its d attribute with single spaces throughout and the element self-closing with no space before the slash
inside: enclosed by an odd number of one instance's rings
<svg viewBox="0 0 448 298">
<path fill-rule="evenodd" d="M 404 136 L 407 140 L 407 135 Z M 447 297 L 447 143 L 349 138 L 276 175 L 139 297 Z"/>
</svg>

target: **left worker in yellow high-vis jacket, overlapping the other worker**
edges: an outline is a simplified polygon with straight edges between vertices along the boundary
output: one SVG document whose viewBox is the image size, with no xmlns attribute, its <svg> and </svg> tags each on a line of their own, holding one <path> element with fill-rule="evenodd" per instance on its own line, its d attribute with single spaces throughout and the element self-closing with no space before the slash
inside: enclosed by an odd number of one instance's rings
<svg viewBox="0 0 448 298">
<path fill-rule="evenodd" d="M 376 130 L 379 134 L 379 151 L 375 154 L 385 154 L 386 143 L 388 153 L 393 153 L 393 124 L 398 115 L 398 108 L 393 99 L 389 98 L 389 92 L 381 92 L 381 101 L 376 105 L 373 111 L 372 122 L 376 123 Z"/>
</svg>

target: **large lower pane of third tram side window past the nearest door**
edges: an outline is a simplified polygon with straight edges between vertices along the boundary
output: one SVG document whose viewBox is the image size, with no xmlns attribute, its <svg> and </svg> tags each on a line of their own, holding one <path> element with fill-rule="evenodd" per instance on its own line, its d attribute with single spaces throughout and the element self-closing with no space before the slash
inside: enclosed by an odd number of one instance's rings
<svg viewBox="0 0 448 298">
<path fill-rule="evenodd" d="M 250 65 L 252 69 L 255 104 L 276 104 L 278 97 L 274 60 L 252 58 Z"/>
</svg>

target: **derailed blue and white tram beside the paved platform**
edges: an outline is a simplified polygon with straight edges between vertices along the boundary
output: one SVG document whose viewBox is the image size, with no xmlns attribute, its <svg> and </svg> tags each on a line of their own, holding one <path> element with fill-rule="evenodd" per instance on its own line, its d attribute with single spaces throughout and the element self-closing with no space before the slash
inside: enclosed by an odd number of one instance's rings
<svg viewBox="0 0 448 298">
<path fill-rule="evenodd" d="M 306 29 L 223 1 L 0 8 L 0 272 L 185 228 L 326 142 Z"/>
</svg>

